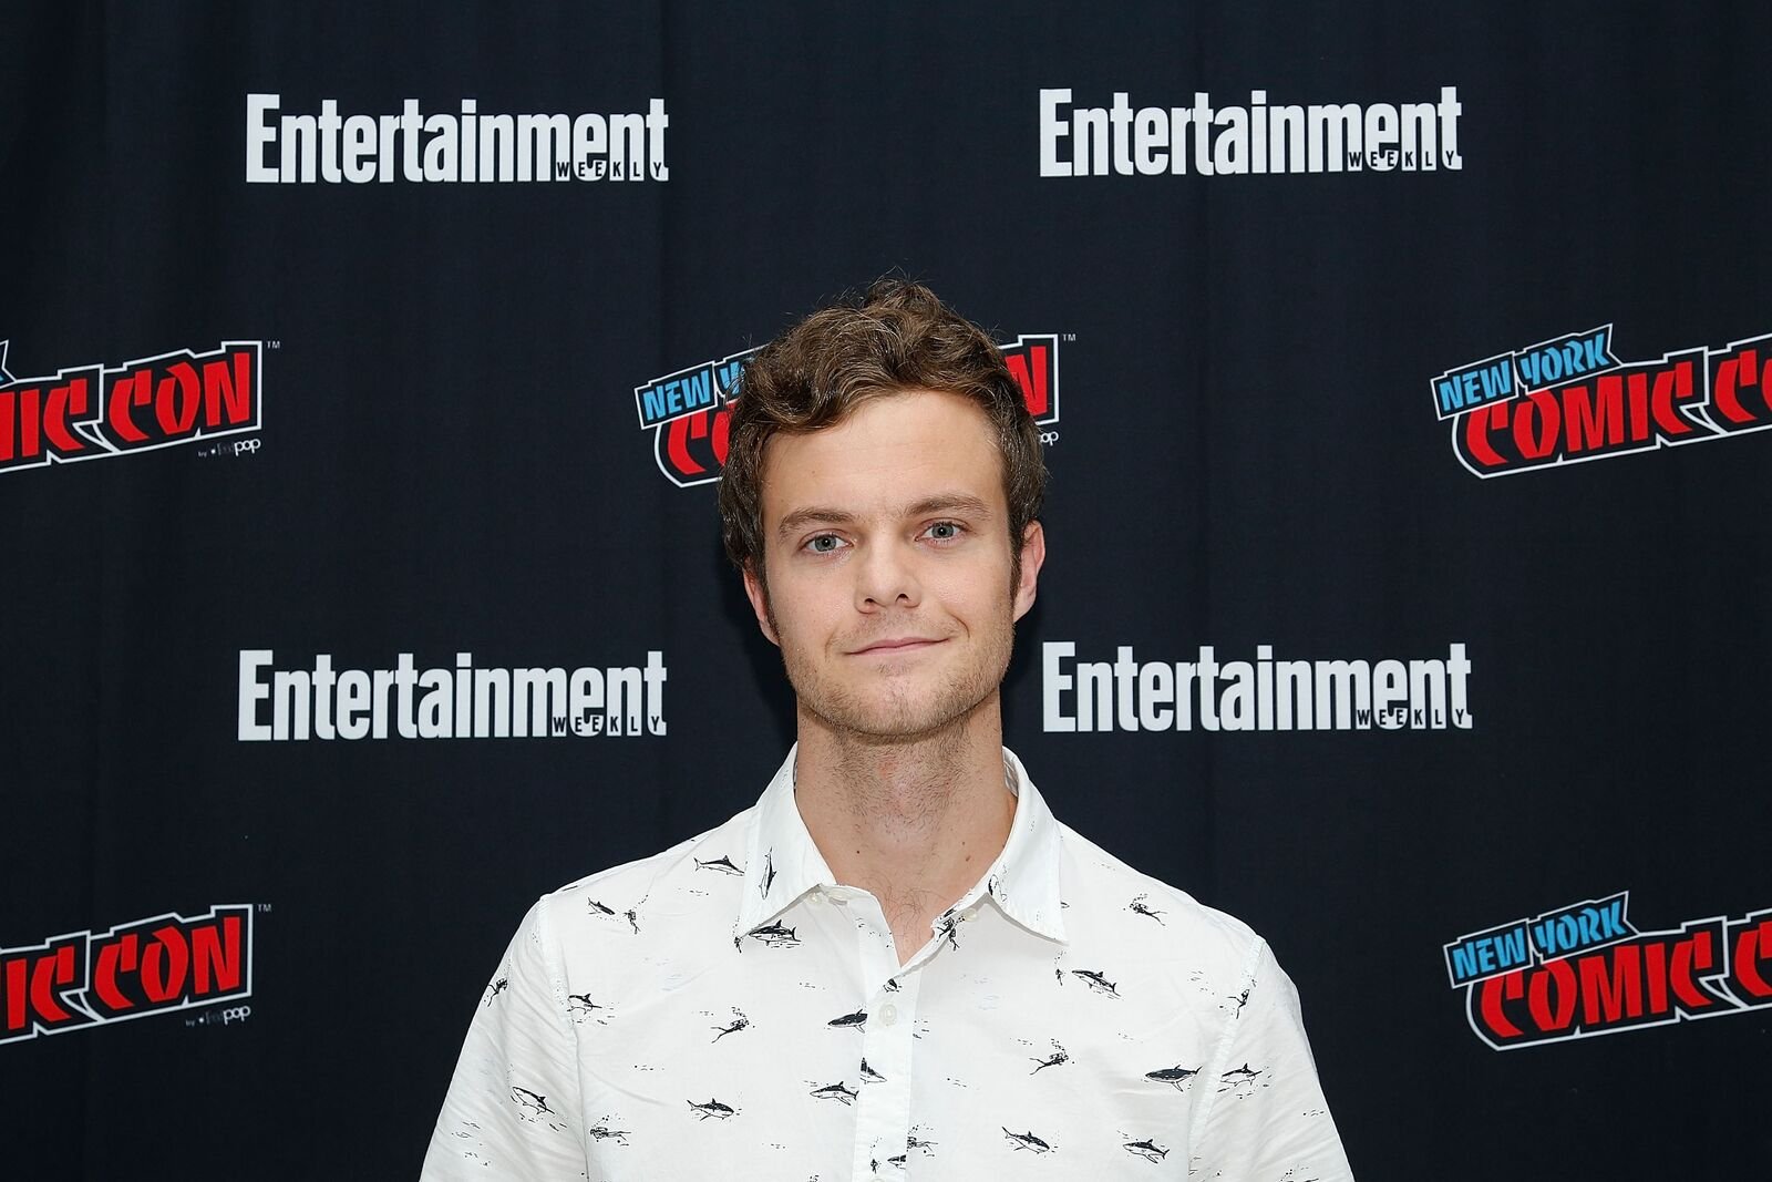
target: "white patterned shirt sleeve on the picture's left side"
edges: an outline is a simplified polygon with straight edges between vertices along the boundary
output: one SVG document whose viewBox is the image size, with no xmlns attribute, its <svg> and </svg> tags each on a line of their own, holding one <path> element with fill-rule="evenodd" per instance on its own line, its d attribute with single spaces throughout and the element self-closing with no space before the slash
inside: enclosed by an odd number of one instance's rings
<svg viewBox="0 0 1772 1182">
<path fill-rule="evenodd" d="M 578 1040 L 546 906 L 530 907 L 480 996 L 424 1182 L 585 1177 Z"/>
</svg>

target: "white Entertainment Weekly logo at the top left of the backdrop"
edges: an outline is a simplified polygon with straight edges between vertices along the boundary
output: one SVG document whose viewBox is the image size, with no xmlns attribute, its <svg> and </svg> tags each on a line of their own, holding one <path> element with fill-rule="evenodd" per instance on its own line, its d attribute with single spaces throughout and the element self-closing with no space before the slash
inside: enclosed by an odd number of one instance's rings
<svg viewBox="0 0 1772 1182">
<path fill-rule="evenodd" d="M 246 96 L 248 184 L 471 184 L 532 181 L 670 181 L 664 99 L 645 112 L 528 113 L 480 110 L 425 113 L 406 99 L 399 113 L 282 113 L 280 94 Z"/>
</svg>

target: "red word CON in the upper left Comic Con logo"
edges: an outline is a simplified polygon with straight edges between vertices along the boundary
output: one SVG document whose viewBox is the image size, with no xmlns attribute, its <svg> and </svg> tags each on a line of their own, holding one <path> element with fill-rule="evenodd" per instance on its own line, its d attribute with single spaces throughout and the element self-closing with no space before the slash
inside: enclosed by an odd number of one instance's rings
<svg viewBox="0 0 1772 1182">
<path fill-rule="evenodd" d="M 119 452 L 259 425 L 259 344 L 188 349 L 108 370 L 105 441 Z"/>
</svg>

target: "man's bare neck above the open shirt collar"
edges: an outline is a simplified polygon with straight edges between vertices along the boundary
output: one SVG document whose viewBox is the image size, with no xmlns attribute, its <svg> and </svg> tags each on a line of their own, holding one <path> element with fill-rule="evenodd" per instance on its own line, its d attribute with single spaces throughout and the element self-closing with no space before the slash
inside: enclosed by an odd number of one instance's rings
<svg viewBox="0 0 1772 1182">
<path fill-rule="evenodd" d="M 996 695 L 941 730 L 881 743 L 799 714 L 794 797 L 838 883 L 881 902 L 909 960 L 1003 851 L 1015 819 Z"/>
</svg>

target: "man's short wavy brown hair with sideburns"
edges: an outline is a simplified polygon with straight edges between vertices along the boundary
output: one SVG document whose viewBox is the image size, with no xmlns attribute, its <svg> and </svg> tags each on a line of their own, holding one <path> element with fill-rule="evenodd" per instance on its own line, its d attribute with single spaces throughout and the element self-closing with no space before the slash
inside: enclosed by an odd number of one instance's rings
<svg viewBox="0 0 1772 1182">
<path fill-rule="evenodd" d="M 739 377 L 719 480 L 721 537 L 739 571 L 764 579 L 764 448 L 781 434 L 835 427 L 868 399 L 939 390 L 985 413 L 1003 457 L 1014 581 L 1021 540 L 1045 500 L 1040 432 L 1003 353 L 982 328 L 907 278 L 875 280 L 764 346 Z M 766 583 L 767 594 L 767 583 Z"/>
</svg>

